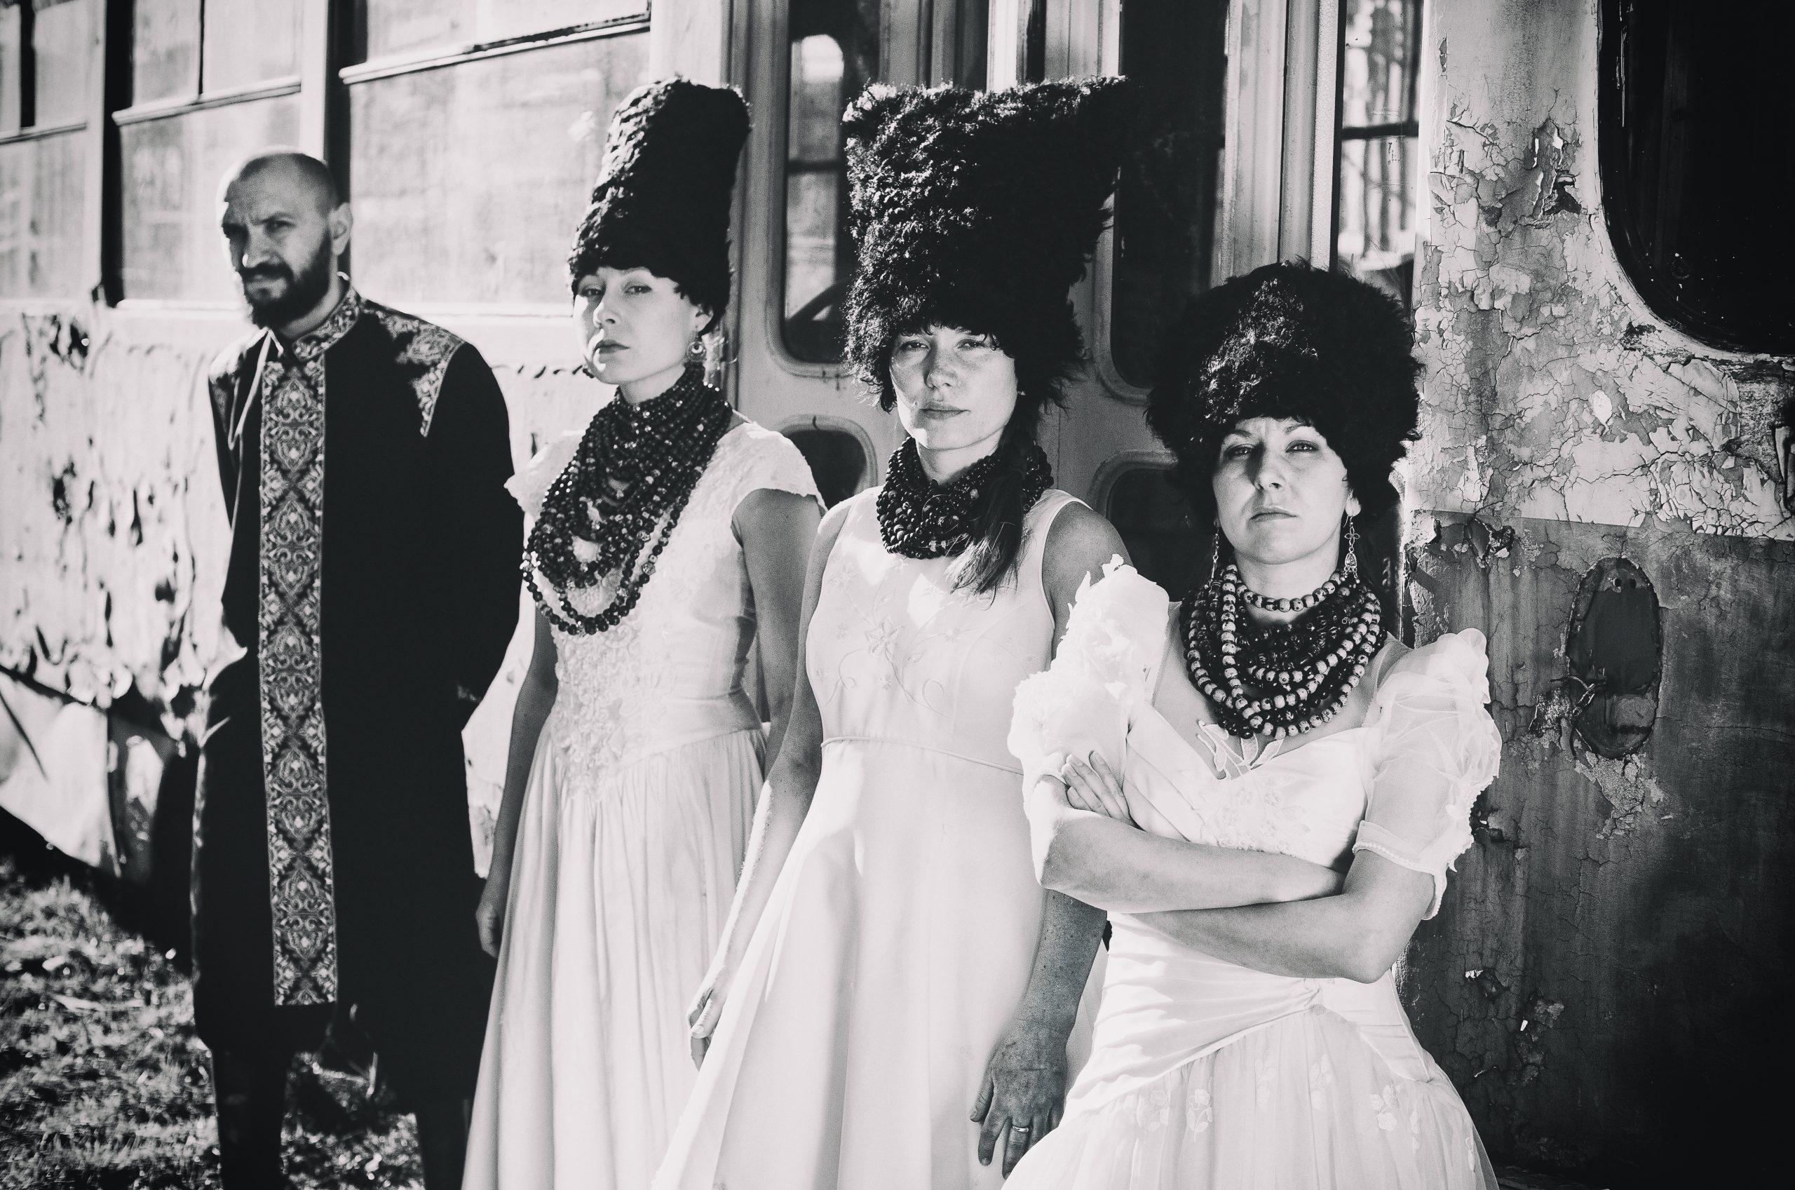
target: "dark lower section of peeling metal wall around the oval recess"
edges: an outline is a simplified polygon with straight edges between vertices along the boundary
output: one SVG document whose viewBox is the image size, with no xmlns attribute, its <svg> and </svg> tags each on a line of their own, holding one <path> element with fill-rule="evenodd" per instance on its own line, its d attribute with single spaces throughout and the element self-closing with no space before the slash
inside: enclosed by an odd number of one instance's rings
<svg viewBox="0 0 1795 1190">
<path fill-rule="evenodd" d="M 1497 1159 L 1659 1185 L 1754 1151 L 1741 1070 L 1795 996 L 1795 542 L 1429 513 L 1416 639 L 1481 628 L 1502 774 L 1402 969 L 1422 1043 Z M 1651 738 L 1572 729 L 1563 655 L 1605 558 L 1662 598 Z M 1700 1138 L 1700 1140 L 1694 1140 Z"/>
</svg>

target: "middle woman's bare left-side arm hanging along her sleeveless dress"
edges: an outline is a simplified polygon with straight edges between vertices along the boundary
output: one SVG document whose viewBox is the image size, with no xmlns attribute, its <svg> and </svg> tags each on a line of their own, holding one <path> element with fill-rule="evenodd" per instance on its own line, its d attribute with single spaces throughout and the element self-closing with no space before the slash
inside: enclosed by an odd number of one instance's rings
<svg viewBox="0 0 1795 1190">
<path fill-rule="evenodd" d="M 817 598 L 822 594 L 822 571 L 835 549 L 835 538 L 842 533 L 847 508 L 838 504 L 822 519 L 817 540 L 810 551 L 810 565 L 804 574 L 804 603 L 797 626 L 797 648 L 792 662 L 792 713 L 786 720 L 784 738 L 779 756 L 766 774 L 766 788 L 761 802 L 754 808 L 754 831 L 749 835 L 747 862 L 741 867 L 741 879 L 736 883 L 736 899 L 729 906 L 729 921 L 723 923 L 723 937 L 718 941 L 716 957 L 711 969 L 693 998 L 691 1021 L 693 1059 L 704 1061 L 704 1050 L 716 1028 L 716 1019 L 723 1011 L 723 996 L 729 993 L 729 980 L 734 978 L 741 955 L 754 937 L 754 926 L 766 912 L 772 899 L 774 881 L 779 869 L 792 854 L 804 815 L 810 813 L 810 799 L 817 793 L 817 779 L 822 775 L 822 711 L 817 707 L 817 695 L 810 687 L 810 675 L 804 669 L 810 617 L 817 610 Z"/>
</svg>

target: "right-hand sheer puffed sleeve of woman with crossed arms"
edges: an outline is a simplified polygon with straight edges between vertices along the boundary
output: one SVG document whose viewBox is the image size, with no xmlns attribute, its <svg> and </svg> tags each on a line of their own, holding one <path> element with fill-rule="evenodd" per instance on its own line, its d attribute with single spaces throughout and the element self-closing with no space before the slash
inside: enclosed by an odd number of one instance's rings
<svg viewBox="0 0 1795 1190">
<path fill-rule="evenodd" d="M 1353 851 L 1432 876 L 1429 917 L 1440 912 L 1447 871 L 1472 844 L 1472 802 L 1502 759 L 1484 707 L 1488 668 L 1483 634 L 1467 628 L 1398 661 L 1377 689 L 1371 799 Z"/>
</svg>

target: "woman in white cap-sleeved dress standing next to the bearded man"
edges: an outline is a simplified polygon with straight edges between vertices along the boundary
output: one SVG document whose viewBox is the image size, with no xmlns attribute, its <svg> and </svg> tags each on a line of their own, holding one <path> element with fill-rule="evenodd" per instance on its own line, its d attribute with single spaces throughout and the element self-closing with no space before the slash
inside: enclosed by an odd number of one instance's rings
<svg viewBox="0 0 1795 1190">
<path fill-rule="evenodd" d="M 497 955 L 465 1186 L 643 1190 L 691 1091 L 686 1003 L 790 709 L 820 519 L 784 436 L 704 382 L 729 300 L 734 92 L 632 93 L 571 260 L 574 321 L 617 397 L 513 481 L 535 653 L 492 871 Z M 772 734 L 743 689 L 759 643 Z"/>
</svg>

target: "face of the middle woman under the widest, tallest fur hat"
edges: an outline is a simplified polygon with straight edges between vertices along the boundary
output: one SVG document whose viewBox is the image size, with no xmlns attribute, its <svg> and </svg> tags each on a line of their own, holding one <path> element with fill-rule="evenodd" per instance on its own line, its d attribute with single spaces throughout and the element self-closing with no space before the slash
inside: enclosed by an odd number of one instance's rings
<svg viewBox="0 0 1795 1190">
<path fill-rule="evenodd" d="M 1016 361 L 985 334 L 930 327 L 892 343 L 898 420 L 923 451 L 989 443 L 1016 411 Z"/>
</svg>

